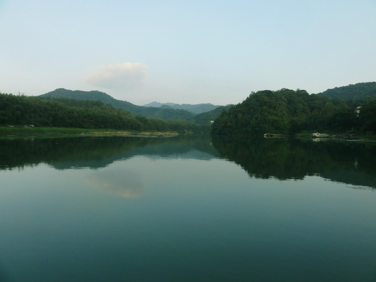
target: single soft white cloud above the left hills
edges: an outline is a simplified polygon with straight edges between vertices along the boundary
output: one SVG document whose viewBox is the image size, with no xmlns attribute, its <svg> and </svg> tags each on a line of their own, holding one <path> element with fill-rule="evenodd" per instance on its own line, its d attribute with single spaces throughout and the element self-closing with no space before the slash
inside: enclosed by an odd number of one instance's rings
<svg viewBox="0 0 376 282">
<path fill-rule="evenodd" d="M 95 86 L 110 89 L 130 90 L 143 84 L 147 66 L 139 63 L 124 63 L 101 67 L 89 73 L 85 80 Z"/>
</svg>

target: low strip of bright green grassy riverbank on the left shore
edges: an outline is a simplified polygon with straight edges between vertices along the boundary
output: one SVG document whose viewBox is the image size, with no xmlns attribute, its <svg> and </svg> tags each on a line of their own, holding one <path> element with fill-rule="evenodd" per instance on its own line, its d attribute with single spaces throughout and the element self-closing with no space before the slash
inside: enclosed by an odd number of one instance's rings
<svg viewBox="0 0 376 282">
<path fill-rule="evenodd" d="M 5 127 L 0 126 L 0 135 L 9 134 L 85 134 L 85 135 L 163 135 L 163 136 L 177 136 L 179 133 L 174 131 L 168 132 L 145 132 L 137 130 L 118 130 L 118 129 L 85 129 L 85 128 L 70 128 L 70 127 Z"/>
</svg>

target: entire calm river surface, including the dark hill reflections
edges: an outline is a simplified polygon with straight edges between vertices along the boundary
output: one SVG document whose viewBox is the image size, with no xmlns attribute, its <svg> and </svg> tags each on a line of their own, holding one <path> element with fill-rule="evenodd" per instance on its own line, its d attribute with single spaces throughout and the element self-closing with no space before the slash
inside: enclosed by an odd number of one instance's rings
<svg viewBox="0 0 376 282">
<path fill-rule="evenodd" d="M 0 280 L 376 281 L 376 144 L 0 139 Z"/>
</svg>

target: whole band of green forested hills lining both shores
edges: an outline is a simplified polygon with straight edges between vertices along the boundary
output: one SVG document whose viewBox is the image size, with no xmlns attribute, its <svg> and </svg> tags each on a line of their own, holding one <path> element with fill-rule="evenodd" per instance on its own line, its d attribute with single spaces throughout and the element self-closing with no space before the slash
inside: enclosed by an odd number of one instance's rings
<svg viewBox="0 0 376 282">
<path fill-rule="evenodd" d="M 7 132 L 6 125 L 23 124 L 39 129 L 59 127 L 78 131 L 111 129 L 221 135 L 320 132 L 375 138 L 376 82 L 336 87 L 318 94 L 286 88 L 251 92 L 237 105 L 219 106 L 201 114 L 136 106 L 99 91 L 59 88 L 31 97 L 0 93 L 0 125 L 3 126 L 0 132 Z"/>
</svg>

